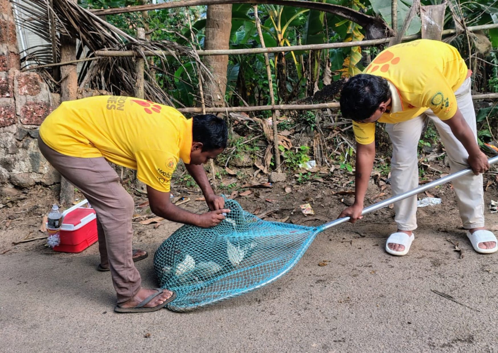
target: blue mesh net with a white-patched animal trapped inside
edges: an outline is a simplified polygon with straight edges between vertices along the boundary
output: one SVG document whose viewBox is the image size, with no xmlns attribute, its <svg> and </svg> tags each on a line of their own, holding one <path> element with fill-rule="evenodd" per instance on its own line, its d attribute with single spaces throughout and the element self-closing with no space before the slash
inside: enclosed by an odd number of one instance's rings
<svg viewBox="0 0 498 353">
<path fill-rule="evenodd" d="M 234 200 L 213 228 L 184 225 L 159 246 L 154 271 L 174 290 L 173 311 L 189 311 L 247 293 L 278 279 L 301 258 L 321 229 L 263 221 Z"/>
</svg>

